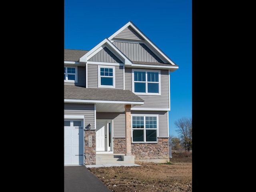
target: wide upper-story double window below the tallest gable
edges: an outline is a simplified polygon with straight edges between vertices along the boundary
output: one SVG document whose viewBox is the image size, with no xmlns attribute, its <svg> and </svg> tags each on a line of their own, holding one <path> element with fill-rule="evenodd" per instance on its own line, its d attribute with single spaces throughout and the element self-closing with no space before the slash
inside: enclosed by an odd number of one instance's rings
<svg viewBox="0 0 256 192">
<path fill-rule="evenodd" d="M 160 71 L 132 70 L 132 91 L 136 94 L 160 95 Z"/>
</svg>

